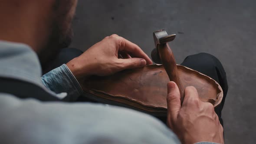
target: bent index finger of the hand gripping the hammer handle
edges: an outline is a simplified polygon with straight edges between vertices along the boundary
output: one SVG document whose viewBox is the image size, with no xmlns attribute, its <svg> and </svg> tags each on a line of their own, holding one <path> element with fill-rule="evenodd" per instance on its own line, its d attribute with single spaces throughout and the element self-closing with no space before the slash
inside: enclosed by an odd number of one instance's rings
<svg viewBox="0 0 256 144">
<path fill-rule="evenodd" d="M 186 87 L 184 91 L 183 105 L 199 105 L 199 103 L 200 99 L 197 93 L 197 89 L 194 86 Z"/>
</svg>

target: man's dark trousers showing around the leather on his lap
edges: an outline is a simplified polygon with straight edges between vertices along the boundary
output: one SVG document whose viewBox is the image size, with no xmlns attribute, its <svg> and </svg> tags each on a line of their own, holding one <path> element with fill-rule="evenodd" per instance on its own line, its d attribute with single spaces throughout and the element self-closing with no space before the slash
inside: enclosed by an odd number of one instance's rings
<svg viewBox="0 0 256 144">
<path fill-rule="evenodd" d="M 43 68 L 43 73 L 49 72 L 50 70 L 55 69 L 62 64 L 66 64 L 67 62 L 69 62 L 75 57 L 80 56 L 81 54 L 82 54 L 82 51 L 78 49 L 71 49 L 71 48 L 62 49 L 59 52 L 59 55 L 56 56 L 56 59 L 54 59 L 51 64 L 47 65 L 46 68 Z M 220 124 L 223 126 L 221 111 L 224 106 L 228 85 L 226 80 L 226 72 L 224 71 L 220 61 L 215 56 L 212 56 L 208 53 L 199 53 L 196 55 L 187 56 L 187 58 L 184 59 L 181 65 L 184 65 L 190 69 L 194 69 L 198 72 L 208 75 L 220 84 L 221 88 L 223 89 L 223 100 L 220 103 L 220 105 L 218 105 L 215 108 L 215 112 L 219 116 Z M 95 102 L 83 97 L 80 97 L 79 101 Z M 166 118 L 160 118 L 160 119 L 162 121 L 166 121 Z"/>
</svg>

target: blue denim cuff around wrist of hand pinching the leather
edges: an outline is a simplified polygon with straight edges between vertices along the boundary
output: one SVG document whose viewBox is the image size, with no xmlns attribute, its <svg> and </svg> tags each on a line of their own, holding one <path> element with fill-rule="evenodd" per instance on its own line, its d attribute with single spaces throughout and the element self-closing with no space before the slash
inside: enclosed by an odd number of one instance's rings
<svg viewBox="0 0 256 144">
<path fill-rule="evenodd" d="M 67 95 L 62 98 L 65 101 L 75 101 L 83 92 L 79 82 L 65 64 L 46 73 L 41 80 L 46 88 L 56 94 L 66 92 Z"/>
</svg>

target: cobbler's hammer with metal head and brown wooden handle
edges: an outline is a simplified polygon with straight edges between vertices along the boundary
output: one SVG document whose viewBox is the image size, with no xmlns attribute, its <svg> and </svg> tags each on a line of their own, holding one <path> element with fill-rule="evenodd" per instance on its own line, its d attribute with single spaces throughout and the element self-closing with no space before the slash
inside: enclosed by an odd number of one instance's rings
<svg viewBox="0 0 256 144">
<path fill-rule="evenodd" d="M 181 80 L 179 78 L 173 52 L 167 43 L 173 41 L 176 37 L 176 34 L 168 35 L 167 32 L 162 29 L 154 32 L 153 37 L 156 49 L 153 49 L 151 52 L 151 58 L 154 62 L 163 64 L 170 81 L 174 81 L 177 84 L 181 93 L 182 102 L 184 98 L 184 87 L 181 84 Z"/>
</svg>

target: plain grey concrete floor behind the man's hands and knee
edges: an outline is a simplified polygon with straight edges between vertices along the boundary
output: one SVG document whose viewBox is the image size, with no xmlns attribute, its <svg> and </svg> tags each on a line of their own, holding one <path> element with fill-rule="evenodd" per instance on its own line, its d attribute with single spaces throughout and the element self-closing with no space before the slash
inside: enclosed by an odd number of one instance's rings
<svg viewBox="0 0 256 144">
<path fill-rule="evenodd" d="M 226 144 L 256 143 L 255 0 L 80 0 L 72 46 L 86 50 L 116 33 L 149 56 L 152 33 L 176 33 L 176 60 L 208 52 L 222 62 L 229 91 L 223 109 Z"/>
</svg>

